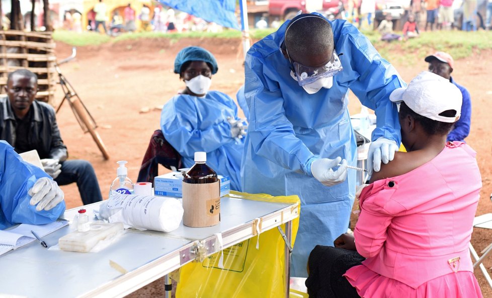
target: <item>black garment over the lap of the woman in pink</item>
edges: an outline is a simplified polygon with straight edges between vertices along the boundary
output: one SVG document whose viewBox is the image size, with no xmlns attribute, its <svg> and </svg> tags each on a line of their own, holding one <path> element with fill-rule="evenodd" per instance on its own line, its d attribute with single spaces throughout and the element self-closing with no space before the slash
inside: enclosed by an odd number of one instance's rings
<svg viewBox="0 0 492 298">
<path fill-rule="evenodd" d="M 361 265 L 362 261 L 364 257 L 356 251 L 317 245 L 308 259 L 306 286 L 309 297 L 359 297 L 343 274 L 351 267 Z"/>
</svg>

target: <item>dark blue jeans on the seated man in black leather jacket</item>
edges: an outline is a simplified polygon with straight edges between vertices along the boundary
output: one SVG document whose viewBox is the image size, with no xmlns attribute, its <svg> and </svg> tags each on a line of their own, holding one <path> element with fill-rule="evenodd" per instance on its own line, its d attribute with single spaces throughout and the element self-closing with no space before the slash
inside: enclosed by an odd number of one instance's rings
<svg viewBox="0 0 492 298">
<path fill-rule="evenodd" d="M 56 177 L 55 181 L 58 185 L 76 182 L 84 205 L 103 200 L 96 172 L 94 172 L 94 168 L 88 161 L 64 161 L 61 164 L 61 173 Z"/>
</svg>

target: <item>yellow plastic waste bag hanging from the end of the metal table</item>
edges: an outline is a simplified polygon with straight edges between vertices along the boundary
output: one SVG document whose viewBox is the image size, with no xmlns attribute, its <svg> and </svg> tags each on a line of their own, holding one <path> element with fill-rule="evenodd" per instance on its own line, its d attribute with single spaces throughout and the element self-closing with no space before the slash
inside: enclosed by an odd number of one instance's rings
<svg viewBox="0 0 492 298">
<path fill-rule="evenodd" d="M 234 197 L 274 203 L 297 202 L 296 195 L 271 196 L 231 191 Z M 247 212 L 247 210 L 244 210 Z M 299 227 L 299 217 L 292 220 L 291 246 Z M 281 225 L 285 232 L 285 225 Z M 257 242 L 259 239 L 259 249 Z M 218 252 L 203 262 L 192 262 L 181 267 L 176 297 L 213 298 L 261 298 L 284 297 L 285 242 L 278 229 L 271 229 L 232 247 L 223 250 L 223 268 L 219 268 L 221 253 Z"/>
</svg>

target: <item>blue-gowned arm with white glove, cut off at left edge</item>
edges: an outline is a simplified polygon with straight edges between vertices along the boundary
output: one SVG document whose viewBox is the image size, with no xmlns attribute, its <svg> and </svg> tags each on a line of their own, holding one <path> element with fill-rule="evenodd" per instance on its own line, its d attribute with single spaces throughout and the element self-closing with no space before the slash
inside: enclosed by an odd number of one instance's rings
<svg viewBox="0 0 492 298">
<path fill-rule="evenodd" d="M 0 140 L 0 230 L 17 223 L 50 223 L 64 211 L 63 192 L 58 184 Z"/>
</svg>

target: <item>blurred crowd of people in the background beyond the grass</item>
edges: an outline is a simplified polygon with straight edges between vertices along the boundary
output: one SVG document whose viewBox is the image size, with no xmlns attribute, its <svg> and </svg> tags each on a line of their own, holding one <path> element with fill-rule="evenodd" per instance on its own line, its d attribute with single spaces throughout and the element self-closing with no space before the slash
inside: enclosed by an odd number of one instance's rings
<svg viewBox="0 0 492 298">
<path fill-rule="evenodd" d="M 347 20 L 360 30 L 377 30 L 381 34 L 381 40 L 386 41 L 406 41 L 409 38 L 418 37 L 421 31 L 477 30 L 480 27 L 480 24 L 477 24 L 479 19 L 477 0 L 462 0 L 463 17 L 461 23 L 455 20 L 456 5 L 453 6 L 455 1 L 461 0 L 411 0 L 409 7 L 405 8 L 404 14 L 400 17 L 387 14 L 383 20 L 377 20 L 375 18 L 378 7 L 377 0 L 341 0 L 343 11 L 337 17 Z M 486 9 L 484 12 L 480 12 L 480 16 L 484 22 L 484 29 L 490 30 L 492 0 L 486 1 Z M 111 18 L 108 15 L 111 15 Z M 252 25 L 257 29 L 276 29 L 280 27 L 283 21 L 278 16 L 269 16 L 268 13 L 265 13 L 255 17 Z M 79 12 L 65 12 L 63 28 L 76 32 L 81 32 L 84 29 L 99 32 L 103 29 L 111 35 L 136 31 L 219 32 L 223 29 L 216 23 L 207 22 L 163 5 L 149 7 L 143 4 L 141 8 L 136 8 L 128 4 L 124 9 L 117 9 L 109 13 L 104 0 L 100 0 L 94 9 L 88 13 L 87 28 L 84 28 L 81 22 L 82 16 Z M 402 31 L 402 34 L 395 34 L 393 31 Z"/>
</svg>

